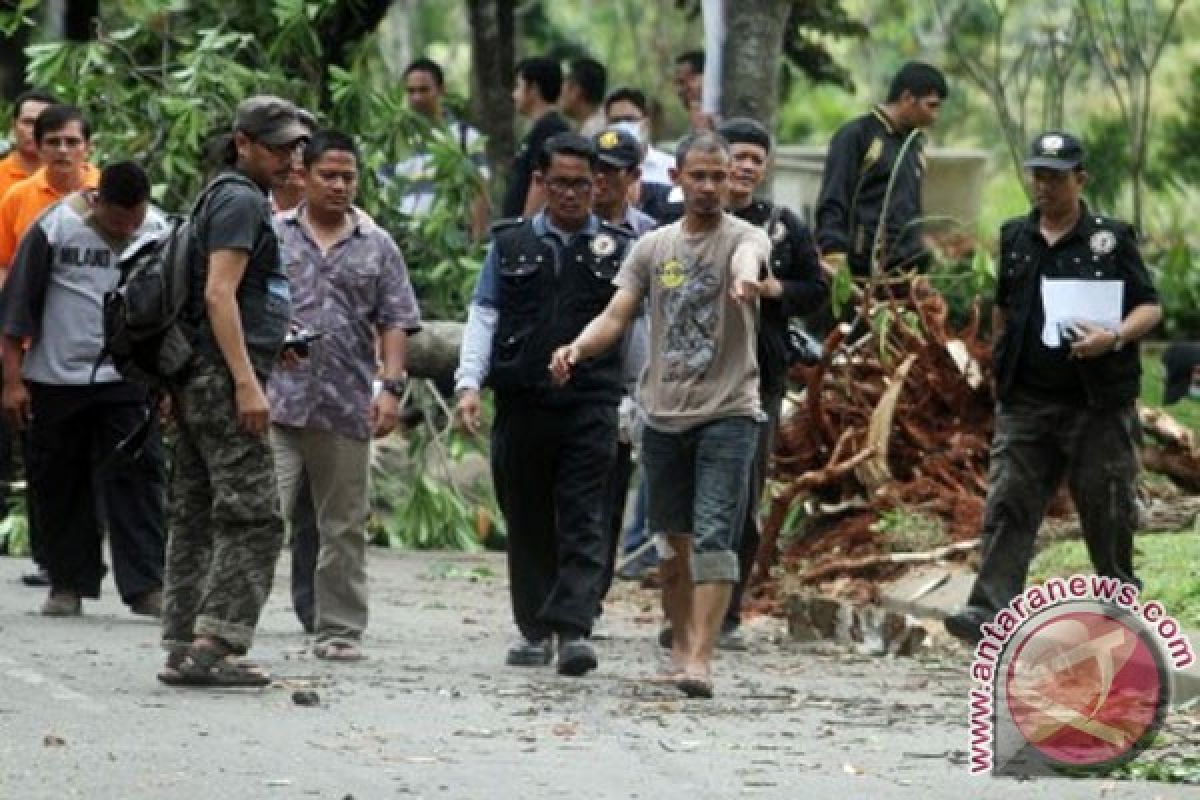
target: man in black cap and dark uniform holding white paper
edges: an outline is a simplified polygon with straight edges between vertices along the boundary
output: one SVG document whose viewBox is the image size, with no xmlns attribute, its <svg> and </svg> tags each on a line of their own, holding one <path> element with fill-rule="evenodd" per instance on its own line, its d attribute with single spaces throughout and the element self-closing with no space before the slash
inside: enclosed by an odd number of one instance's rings
<svg viewBox="0 0 1200 800">
<path fill-rule="evenodd" d="M 1078 138 L 1043 133 L 1025 166 L 1033 211 L 1001 229 L 992 311 L 998 404 L 983 563 L 966 609 L 946 619 L 967 642 L 978 642 L 980 625 L 1025 588 L 1038 527 L 1063 476 L 1096 571 L 1140 585 L 1136 342 L 1162 319 L 1158 294 L 1134 229 L 1080 199 L 1087 172 Z M 1062 289 L 1076 299 L 1117 289 L 1118 300 L 1110 309 L 1097 303 L 1094 315 L 1105 319 L 1062 319 L 1055 302 Z"/>
</svg>

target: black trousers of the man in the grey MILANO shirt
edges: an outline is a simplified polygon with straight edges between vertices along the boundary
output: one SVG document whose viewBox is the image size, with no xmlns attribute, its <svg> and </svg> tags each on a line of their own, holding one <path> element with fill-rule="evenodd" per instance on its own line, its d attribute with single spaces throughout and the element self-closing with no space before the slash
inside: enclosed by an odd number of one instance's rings
<svg viewBox="0 0 1200 800">
<path fill-rule="evenodd" d="M 55 589 L 98 597 L 107 519 L 113 571 L 131 603 L 162 588 L 167 542 L 162 433 L 157 411 L 128 384 L 30 384 L 29 482 Z M 118 452 L 150 413 L 136 456 Z"/>
</svg>

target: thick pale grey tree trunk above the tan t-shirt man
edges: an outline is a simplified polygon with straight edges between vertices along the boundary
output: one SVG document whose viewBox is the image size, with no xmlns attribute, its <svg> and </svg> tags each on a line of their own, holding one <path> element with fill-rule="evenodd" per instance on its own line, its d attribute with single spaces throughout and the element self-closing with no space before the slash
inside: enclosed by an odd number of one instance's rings
<svg viewBox="0 0 1200 800">
<path fill-rule="evenodd" d="M 721 116 L 749 116 L 775 130 L 784 30 L 792 0 L 725 4 Z"/>
</svg>

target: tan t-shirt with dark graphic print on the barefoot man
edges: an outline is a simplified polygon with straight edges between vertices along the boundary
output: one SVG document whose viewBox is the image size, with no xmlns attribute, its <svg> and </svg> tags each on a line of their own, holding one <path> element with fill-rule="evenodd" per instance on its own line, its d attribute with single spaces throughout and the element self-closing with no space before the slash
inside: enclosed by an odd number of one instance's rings
<svg viewBox="0 0 1200 800">
<path fill-rule="evenodd" d="M 770 240 L 728 213 L 707 234 L 684 234 L 680 221 L 637 240 L 613 279 L 648 301 L 649 360 L 638 399 L 656 431 L 762 414 L 758 306 L 730 296 L 738 252 L 764 264 Z"/>
</svg>

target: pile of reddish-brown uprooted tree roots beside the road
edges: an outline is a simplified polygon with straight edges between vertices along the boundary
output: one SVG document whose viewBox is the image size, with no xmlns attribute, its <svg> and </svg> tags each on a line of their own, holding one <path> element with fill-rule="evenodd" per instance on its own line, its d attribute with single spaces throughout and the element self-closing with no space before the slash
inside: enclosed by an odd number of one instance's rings
<svg viewBox="0 0 1200 800">
<path fill-rule="evenodd" d="M 780 534 L 796 505 L 804 535 L 781 559 L 799 583 L 874 600 L 880 581 L 913 563 L 962 557 L 979 535 L 992 432 L 991 347 L 979 307 L 960 331 L 924 279 L 905 296 L 864 301 L 858 321 L 835 327 L 823 360 L 794 367 L 809 387 L 785 409 L 772 465 L 772 498 L 752 581 L 773 604 Z M 1147 415 L 1157 415 L 1153 420 Z M 1186 429 L 1144 411 L 1154 444 L 1144 449 L 1181 486 L 1200 486 L 1200 452 Z M 1148 423 L 1148 425 L 1147 425 Z M 1152 451 L 1152 452 L 1147 452 Z M 1069 512 L 1060 498 L 1051 513 Z M 936 529 L 924 546 L 896 541 L 896 515 Z M 916 551 L 916 552 L 913 552 Z"/>
</svg>

